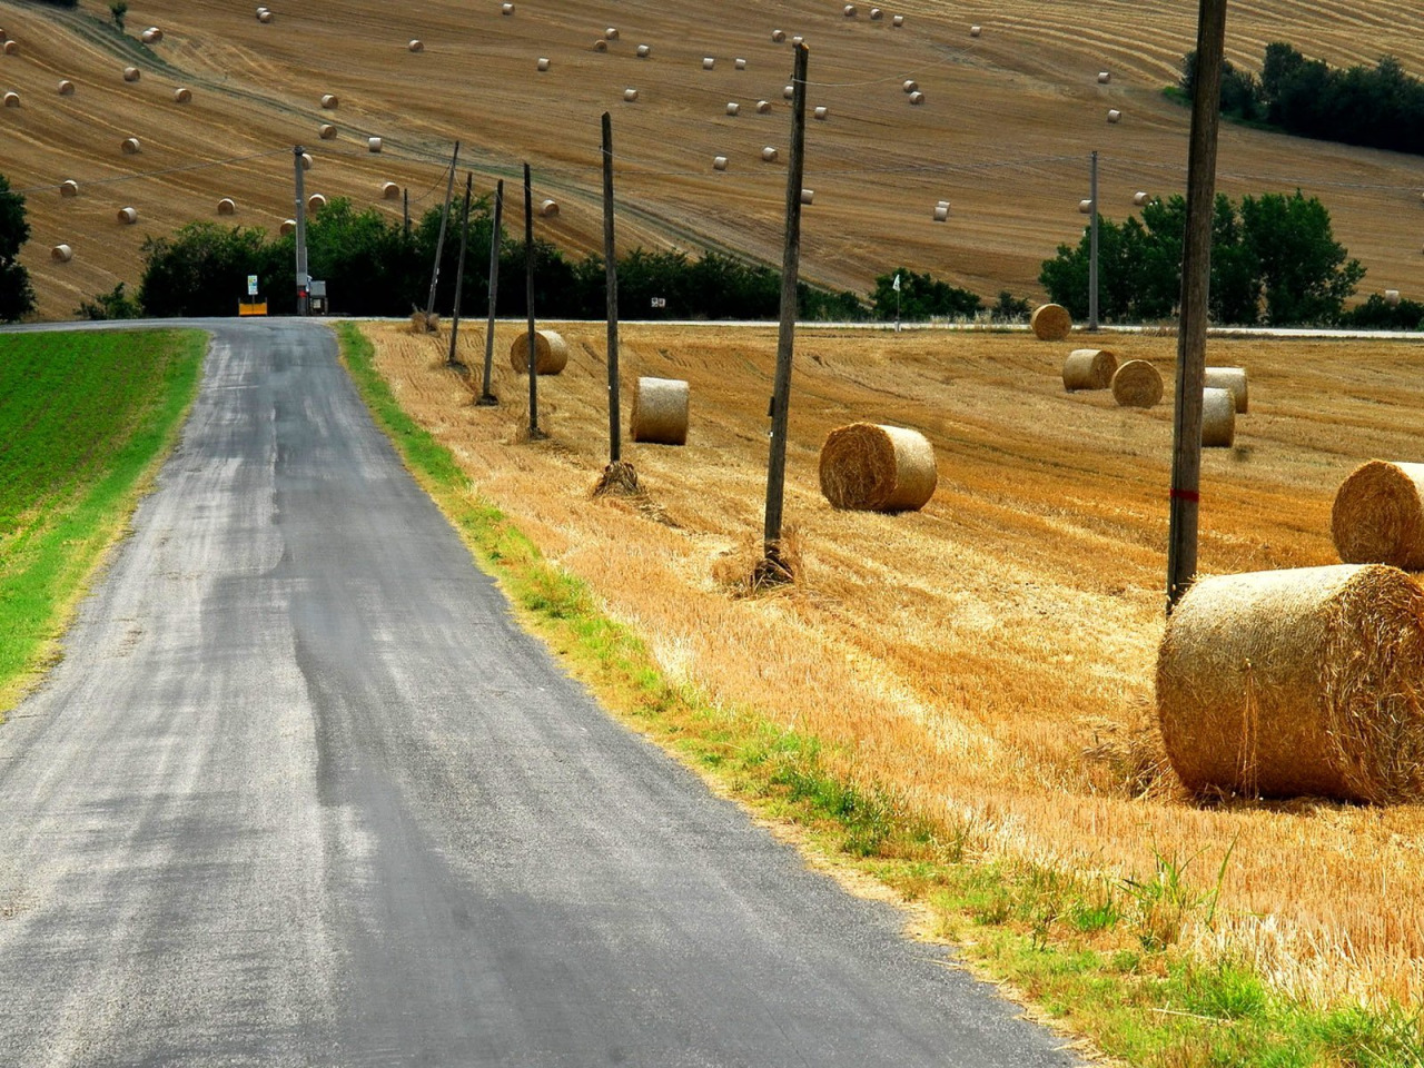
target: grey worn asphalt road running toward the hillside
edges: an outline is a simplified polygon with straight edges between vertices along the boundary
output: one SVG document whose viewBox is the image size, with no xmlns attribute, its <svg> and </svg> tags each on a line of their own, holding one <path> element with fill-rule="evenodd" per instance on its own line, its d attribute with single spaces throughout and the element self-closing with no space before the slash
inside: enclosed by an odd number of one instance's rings
<svg viewBox="0 0 1424 1068">
<path fill-rule="evenodd" d="M 570 682 L 325 329 L 206 326 L 0 728 L 0 1065 L 1075 1064 Z"/>
</svg>

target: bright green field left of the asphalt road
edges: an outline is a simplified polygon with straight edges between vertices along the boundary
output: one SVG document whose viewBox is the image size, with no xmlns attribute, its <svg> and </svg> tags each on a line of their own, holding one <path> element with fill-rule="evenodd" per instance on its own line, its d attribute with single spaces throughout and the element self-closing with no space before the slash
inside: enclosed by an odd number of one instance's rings
<svg viewBox="0 0 1424 1068">
<path fill-rule="evenodd" d="M 177 440 L 205 350 L 198 330 L 0 336 L 0 716 Z"/>
</svg>

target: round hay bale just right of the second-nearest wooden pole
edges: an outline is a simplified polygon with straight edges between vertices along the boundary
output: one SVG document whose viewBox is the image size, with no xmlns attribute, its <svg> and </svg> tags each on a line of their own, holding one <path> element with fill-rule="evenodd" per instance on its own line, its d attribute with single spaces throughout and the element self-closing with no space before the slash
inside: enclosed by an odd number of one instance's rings
<svg viewBox="0 0 1424 1068">
<path fill-rule="evenodd" d="M 820 447 L 820 491 L 833 508 L 918 511 L 937 483 L 934 447 L 917 430 L 852 423 Z"/>
</svg>

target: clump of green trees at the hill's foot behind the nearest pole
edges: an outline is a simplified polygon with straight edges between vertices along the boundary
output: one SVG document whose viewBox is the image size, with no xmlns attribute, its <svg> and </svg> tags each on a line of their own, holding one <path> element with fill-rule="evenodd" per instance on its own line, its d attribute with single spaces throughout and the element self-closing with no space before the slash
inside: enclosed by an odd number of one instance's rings
<svg viewBox="0 0 1424 1068">
<path fill-rule="evenodd" d="M 1176 312 L 1182 288 L 1186 201 L 1152 201 L 1142 218 L 1098 222 L 1098 310 L 1109 322 L 1155 322 Z M 1038 281 L 1074 318 L 1088 315 L 1089 231 L 1059 245 Z M 1344 320 L 1344 302 L 1364 278 L 1334 239 L 1330 212 L 1314 197 L 1263 194 L 1236 205 L 1216 198 L 1212 222 L 1210 315 L 1215 322 L 1273 326 Z"/>
</svg>

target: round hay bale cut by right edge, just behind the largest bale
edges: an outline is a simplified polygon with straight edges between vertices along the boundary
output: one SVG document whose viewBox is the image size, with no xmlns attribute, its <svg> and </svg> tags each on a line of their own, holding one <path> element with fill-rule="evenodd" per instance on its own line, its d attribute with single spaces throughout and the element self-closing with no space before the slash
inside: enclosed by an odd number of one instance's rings
<svg viewBox="0 0 1424 1068">
<path fill-rule="evenodd" d="M 1424 464 L 1370 460 L 1336 491 L 1330 535 L 1346 564 L 1424 571 Z"/>
</svg>

